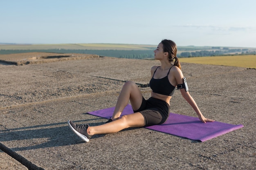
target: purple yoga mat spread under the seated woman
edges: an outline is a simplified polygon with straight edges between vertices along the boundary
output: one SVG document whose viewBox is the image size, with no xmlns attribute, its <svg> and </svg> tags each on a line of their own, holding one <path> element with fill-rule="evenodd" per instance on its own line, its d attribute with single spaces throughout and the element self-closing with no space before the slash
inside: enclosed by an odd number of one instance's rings
<svg viewBox="0 0 256 170">
<path fill-rule="evenodd" d="M 108 119 L 112 117 L 114 109 L 115 107 L 112 107 L 88 113 L 90 115 Z M 124 108 L 122 115 L 128 115 L 131 113 L 133 113 L 133 110 L 128 104 Z M 244 126 L 242 124 L 233 125 L 219 121 L 207 122 L 204 124 L 198 119 L 198 117 L 170 113 L 170 116 L 164 124 L 148 126 L 146 128 L 203 142 L 243 127 Z"/>
</svg>

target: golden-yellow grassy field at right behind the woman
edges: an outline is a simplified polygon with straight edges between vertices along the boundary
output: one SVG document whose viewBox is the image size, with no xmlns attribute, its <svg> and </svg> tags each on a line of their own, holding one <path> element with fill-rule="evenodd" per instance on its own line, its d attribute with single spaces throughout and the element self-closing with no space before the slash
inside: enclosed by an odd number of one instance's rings
<svg viewBox="0 0 256 170">
<path fill-rule="evenodd" d="M 256 68 L 256 55 L 180 58 L 180 62 Z"/>
</svg>

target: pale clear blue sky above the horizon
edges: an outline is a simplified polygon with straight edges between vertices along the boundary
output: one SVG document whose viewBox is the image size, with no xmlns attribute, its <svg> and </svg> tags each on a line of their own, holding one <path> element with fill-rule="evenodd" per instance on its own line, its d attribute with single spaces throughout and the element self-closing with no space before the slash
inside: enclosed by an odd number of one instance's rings
<svg viewBox="0 0 256 170">
<path fill-rule="evenodd" d="M 0 42 L 256 47 L 255 0 L 0 0 Z"/>
</svg>

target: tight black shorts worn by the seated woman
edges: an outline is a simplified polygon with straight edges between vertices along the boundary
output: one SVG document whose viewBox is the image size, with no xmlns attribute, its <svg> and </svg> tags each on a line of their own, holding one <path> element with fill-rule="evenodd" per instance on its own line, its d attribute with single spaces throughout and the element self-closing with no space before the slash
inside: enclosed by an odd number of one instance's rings
<svg viewBox="0 0 256 170">
<path fill-rule="evenodd" d="M 170 114 L 170 106 L 163 100 L 150 97 L 142 99 L 141 106 L 134 113 L 139 112 L 144 116 L 145 126 L 163 124 Z"/>
</svg>

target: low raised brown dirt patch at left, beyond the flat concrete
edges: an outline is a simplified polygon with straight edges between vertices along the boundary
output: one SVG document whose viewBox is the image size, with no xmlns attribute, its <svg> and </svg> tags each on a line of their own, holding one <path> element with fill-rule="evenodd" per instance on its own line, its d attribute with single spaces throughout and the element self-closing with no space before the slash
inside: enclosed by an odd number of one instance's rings
<svg viewBox="0 0 256 170">
<path fill-rule="evenodd" d="M 98 58 L 94 54 L 77 54 L 77 53 L 18 53 L 0 55 L 1 64 L 26 65 L 40 64 L 47 62 L 57 62 L 65 60 L 81 60 L 88 58 Z"/>
</svg>

